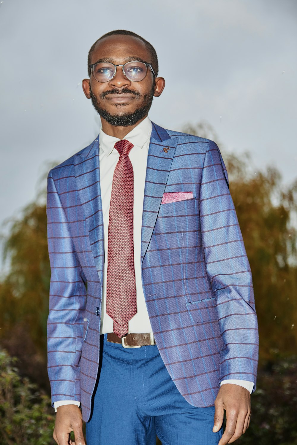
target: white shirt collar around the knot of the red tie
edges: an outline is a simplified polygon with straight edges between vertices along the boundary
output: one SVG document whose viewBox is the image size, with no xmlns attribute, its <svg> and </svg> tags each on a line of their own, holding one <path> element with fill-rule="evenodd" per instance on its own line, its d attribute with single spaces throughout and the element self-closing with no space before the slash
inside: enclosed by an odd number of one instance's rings
<svg viewBox="0 0 297 445">
<path fill-rule="evenodd" d="M 125 138 L 136 147 L 142 148 L 146 141 L 151 138 L 152 124 L 148 116 L 141 121 L 136 127 L 134 127 L 130 133 L 126 134 Z M 104 133 L 102 127 L 99 130 L 99 144 L 100 148 L 104 151 L 106 156 L 114 150 L 114 144 L 121 139 L 114 138 L 109 134 Z"/>
</svg>

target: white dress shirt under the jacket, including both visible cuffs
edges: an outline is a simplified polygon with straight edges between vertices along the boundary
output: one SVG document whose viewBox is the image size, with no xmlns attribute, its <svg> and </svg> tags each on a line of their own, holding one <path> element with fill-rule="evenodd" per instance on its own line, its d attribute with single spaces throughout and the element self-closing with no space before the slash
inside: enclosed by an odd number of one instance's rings
<svg viewBox="0 0 297 445">
<path fill-rule="evenodd" d="M 133 215 L 133 240 L 134 240 L 134 265 L 135 265 L 135 282 L 136 282 L 136 301 L 137 313 L 128 323 L 129 332 L 143 333 L 152 332 L 150 319 L 146 309 L 146 302 L 142 290 L 141 279 L 141 226 L 142 226 L 142 208 L 144 198 L 144 186 L 146 178 L 146 161 L 150 145 L 152 124 L 148 117 L 134 127 L 125 138 L 134 147 L 130 150 L 129 158 L 133 166 L 134 172 L 134 215 Z M 114 169 L 118 163 L 118 150 L 114 148 L 114 144 L 120 141 L 114 136 L 104 133 L 102 127 L 99 131 L 99 162 L 100 162 L 100 187 L 102 198 L 103 224 L 104 224 L 104 281 L 102 292 L 102 315 L 100 333 L 106 334 L 113 332 L 113 320 L 106 314 L 106 276 L 107 276 L 107 244 L 108 244 L 108 223 L 112 180 Z M 252 392 L 254 384 L 246 380 L 223 380 L 221 384 L 233 383 L 243 386 Z M 54 402 L 55 411 L 61 405 L 80 405 L 76 401 L 58 401 Z"/>
</svg>

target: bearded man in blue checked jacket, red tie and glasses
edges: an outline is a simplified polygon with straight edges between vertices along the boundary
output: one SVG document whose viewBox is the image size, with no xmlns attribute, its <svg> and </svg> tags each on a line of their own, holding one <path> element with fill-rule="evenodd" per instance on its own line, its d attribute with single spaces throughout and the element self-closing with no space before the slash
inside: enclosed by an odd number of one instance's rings
<svg viewBox="0 0 297 445">
<path fill-rule="evenodd" d="M 105 34 L 88 69 L 102 128 L 48 178 L 53 437 L 85 444 L 83 418 L 88 445 L 231 443 L 249 425 L 258 340 L 220 151 L 149 120 L 165 81 L 142 37 Z"/>
</svg>

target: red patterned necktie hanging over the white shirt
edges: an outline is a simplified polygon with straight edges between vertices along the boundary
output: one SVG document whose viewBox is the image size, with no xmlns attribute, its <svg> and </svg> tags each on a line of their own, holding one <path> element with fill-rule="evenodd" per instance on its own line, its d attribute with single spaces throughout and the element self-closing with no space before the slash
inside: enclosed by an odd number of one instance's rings
<svg viewBox="0 0 297 445">
<path fill-rule="evenodd" d="M 114 169 L 108 225 L 106 313 L 114 320 L 114 333 L 128 332 L 128 321 L 136 314 L 133 245 L 133 167 L 126 139 L 114 144 L 120 158 Z"/>
</svg>

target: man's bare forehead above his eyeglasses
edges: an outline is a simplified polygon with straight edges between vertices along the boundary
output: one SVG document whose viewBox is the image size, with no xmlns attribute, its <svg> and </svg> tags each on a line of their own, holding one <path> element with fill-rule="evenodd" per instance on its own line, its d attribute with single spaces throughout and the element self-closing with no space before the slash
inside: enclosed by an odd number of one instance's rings
<svg viewBox="0 0 297 445">
<path fill-rule="evenodd" d="M 150 53 L 142 40 L 133 36 L 108 36 L 96 44 L 91 57 L 91 64 L 100 59 L 113 59 L 122 63 L 131 57 L 138 57 L 151 62 Z"/>
</svg>

